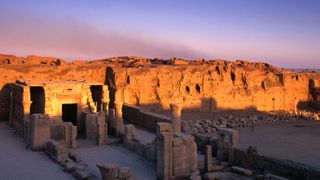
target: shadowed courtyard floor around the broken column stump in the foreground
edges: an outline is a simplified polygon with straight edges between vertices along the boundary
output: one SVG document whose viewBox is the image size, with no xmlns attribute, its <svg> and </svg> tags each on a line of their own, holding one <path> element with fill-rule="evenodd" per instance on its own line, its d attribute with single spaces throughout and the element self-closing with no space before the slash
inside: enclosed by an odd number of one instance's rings
<svg viewBox="0 0 320 180">
<path fill-rule="evenodd" d="M 127 166 L 135 179 L 155 180 L 156 167 L 141 156 L 116 145 L 96 146 L 86 140 L 78 141 L 79 148 L 73 149 L 82 161 L 89 165 L 90 171 L 101 178 L 96 164 L 116 164 L 120 167 Z"/>
</svg>

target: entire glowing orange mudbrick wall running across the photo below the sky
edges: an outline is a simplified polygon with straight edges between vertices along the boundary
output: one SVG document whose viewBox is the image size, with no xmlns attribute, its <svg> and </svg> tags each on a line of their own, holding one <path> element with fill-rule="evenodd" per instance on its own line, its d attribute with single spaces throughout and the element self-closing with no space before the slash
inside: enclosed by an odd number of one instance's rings
<svg viewBox="0 0 320 180">
<path fill-rule="evenodd" d="M 183 111 L 295 111 L 320 99 L 320 73 L 287 71 L 266 63 L 136 57 L 67 63 L 58 58 L 0 55 L 0 120 L 9 119 L 6 84 L 18 79 L 104 83 L 109 87 L 110 106 L 124 102 L 155 111 L 169 110 L 178 101 L 184 104 Z"/>
</svg>

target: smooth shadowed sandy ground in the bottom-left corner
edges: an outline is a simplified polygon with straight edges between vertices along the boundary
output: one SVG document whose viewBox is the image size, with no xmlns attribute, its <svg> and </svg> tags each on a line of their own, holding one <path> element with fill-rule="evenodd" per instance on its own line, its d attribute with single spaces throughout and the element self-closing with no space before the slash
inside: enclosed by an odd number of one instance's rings
<svg viewBox="0 0 320 180">
<path fill-rule="evenodd" d="M 43 152 L 32 152 L 25 147 L 20 136 L 14 134 L 6 123 L 0 123 L 1 180 L 74 179 Z"/>
</svg>

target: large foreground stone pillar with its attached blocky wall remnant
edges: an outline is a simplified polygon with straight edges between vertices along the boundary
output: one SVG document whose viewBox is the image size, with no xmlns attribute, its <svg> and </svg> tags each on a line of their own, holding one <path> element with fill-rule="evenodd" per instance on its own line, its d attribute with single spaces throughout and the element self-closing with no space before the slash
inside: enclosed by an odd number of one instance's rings
<svg viewBox="0 0 320 180">
<path fill-rule="evenodd" d="M 197 174 L 197 145 L 193 136 L 174 134 L 170 123 L 157 123 L 157 177 L 174 179 Z"/>
</svg>

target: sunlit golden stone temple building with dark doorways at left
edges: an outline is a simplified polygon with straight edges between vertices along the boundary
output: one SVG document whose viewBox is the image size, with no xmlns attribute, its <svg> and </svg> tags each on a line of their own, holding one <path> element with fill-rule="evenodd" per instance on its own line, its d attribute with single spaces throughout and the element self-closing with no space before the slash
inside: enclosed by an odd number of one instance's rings
<svg viewBox="0 0 320 180">
<path fill-rule="evenodd" d="M 109 91 L 102 83 L 86 81 L 17 81 L 10 87 L 9 123 L 19 132 L 32 114 L 46 114 L 72 122 L 84 130 L 83 112 L 106 110 Z"/>
</svg>

